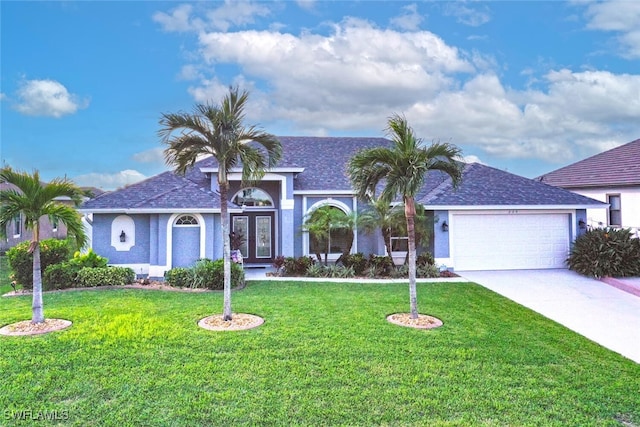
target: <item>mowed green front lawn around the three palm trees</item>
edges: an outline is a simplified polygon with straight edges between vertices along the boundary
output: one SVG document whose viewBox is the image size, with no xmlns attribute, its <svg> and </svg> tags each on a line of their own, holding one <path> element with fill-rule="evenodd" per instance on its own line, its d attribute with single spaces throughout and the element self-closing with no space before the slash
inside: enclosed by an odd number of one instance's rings
<svg viewBox="0 0 640 427">
<path fill-rule="evenodd" d="M 219 293 L 48 293 L 74 325 L 0 337 L 0 424 L 640 425 L 640 365 L 475 284 L 418 296 L 443 327 L 387 323 L 398 284 L 252 283 L 234 311 L 266 323 L 242 332 L 197 327 Z M 0 298 L 0 326 L 30 302 Z"/>
</svg>

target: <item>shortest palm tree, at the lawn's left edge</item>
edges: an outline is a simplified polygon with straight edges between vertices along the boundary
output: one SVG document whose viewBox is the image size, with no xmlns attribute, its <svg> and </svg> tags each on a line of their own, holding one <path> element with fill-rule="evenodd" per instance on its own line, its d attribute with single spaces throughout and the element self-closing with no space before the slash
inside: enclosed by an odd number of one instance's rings
<svg viewBox="0 0 640 427">
<path fill-rule="evenodd" d="M 82 190 L 66 178 L 56 178 L 48 184 L 40 182 L 40 174 L 14 171 L 10 167 L 0 170 L 0 181 L 13 184 L 14 188 L 0 192 L 0 233 L 6 236 L 11 220 L 22 216 L 25 228 L 33 231 L 29 252 L 33 253 L 33 302 L 31 323 L 44 322 L 42 304 L 42 272 L 40 268 L 40 219 L 49 217 L 51 223 L 62 222 L 67 227 L 67 235 L 75 238 L 78 248 L 82 248 L 87 237 L 82 225 L 82 217 L 72 206 L 56 201 L 58 197 L 69 197 L 76 206 L 83 199 Z"/>
</svg>

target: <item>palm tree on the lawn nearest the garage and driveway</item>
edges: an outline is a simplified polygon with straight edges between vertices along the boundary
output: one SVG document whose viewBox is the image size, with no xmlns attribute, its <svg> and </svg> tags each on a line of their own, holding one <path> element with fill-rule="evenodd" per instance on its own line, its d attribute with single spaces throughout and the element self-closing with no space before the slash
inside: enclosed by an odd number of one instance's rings
<svg viewBox="0 0 640 427">
<path fill-rule="evenodd" d="M 461 151 L 449 143 L 434 142 L 425 146 L 421 139 L 416 138 L 407 119 L 397 114 L 388 120 L 387 135 L 393 142 L 392 147 L 359 151 L 349 161 L 348 173 L 361 200 L 372 197 L 380 183 L 383 184 L 380 193 L 382 203 L 390 204 L 398 196 L 402 197 L 409 240 L 409 303 L 411 318 L 416 319 L 415 196 L 431 170 L 449 175 L 456 187 L 462 179 L 462 169 L 456 161 Z"/>
</svg>

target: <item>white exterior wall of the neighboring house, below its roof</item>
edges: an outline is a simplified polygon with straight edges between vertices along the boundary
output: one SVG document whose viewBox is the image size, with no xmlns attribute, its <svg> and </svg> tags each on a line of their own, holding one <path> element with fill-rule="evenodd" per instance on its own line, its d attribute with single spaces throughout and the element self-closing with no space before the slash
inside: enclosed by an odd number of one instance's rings
<svg viewBox="0 0 640 427">
<path fill-rule="evenodd" d="M 635 230 L 640 228 L 640 187 L 588 188 L 571 189 L 571 191 L 605 203 L 607 203 L 607 194 L 620 194 L 622 226 Z M 607 209 L 587 209 L 587 223 L 594 227 L 599 223 L 606 226 L 607 214 Z"/>
</svg>

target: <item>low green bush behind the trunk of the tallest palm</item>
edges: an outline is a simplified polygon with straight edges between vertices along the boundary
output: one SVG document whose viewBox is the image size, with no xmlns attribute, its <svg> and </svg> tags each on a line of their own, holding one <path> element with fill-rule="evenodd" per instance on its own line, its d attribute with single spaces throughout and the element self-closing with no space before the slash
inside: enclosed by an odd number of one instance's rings
<svg viewBox="0 0 640 427">
<path fill-rule="evenodd" d="M 221 290 L 224 289 L 224 261 L 201 259 L 191 268 L 172 268 L 167 271 L 165 278 L 172 286 Z M 231 287 L 237 288 L 243 284 L 244 270 L 240 264 L 232 262 Z"/>
</svg>

